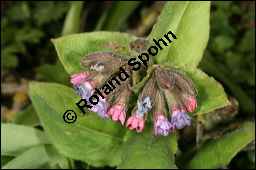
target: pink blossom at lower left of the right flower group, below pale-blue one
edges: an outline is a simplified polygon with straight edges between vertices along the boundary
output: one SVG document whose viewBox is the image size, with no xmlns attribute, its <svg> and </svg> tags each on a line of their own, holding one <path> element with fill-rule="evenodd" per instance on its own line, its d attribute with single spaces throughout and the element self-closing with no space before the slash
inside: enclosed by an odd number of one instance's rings
<svg viewBox="0 0 256 170">
<path fill-rule="evenodd" d="M 142 132 L 145 126 L 145 121 L 142 117 L 137 117 L 136 115 L 129 117 L 129 119 L 126 122 L 126 127 L 129 127 L 130 129 L 136 128 L 136 131 Z"/>
</svg>

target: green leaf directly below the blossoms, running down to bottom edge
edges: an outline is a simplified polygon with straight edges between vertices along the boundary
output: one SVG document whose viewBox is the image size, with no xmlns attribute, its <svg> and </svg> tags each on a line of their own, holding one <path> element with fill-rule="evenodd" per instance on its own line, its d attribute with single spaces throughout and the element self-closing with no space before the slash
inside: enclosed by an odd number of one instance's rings
<svg viewBox="0 0 256 170">
<path fill-rule="evenodd" d="M 177 142 L 174 134 L 153 136 L 153 124 L 142 133 L 129 131 L 125 137 L 125 154 L 119 169 L 174 169 Z"/>
</svg>

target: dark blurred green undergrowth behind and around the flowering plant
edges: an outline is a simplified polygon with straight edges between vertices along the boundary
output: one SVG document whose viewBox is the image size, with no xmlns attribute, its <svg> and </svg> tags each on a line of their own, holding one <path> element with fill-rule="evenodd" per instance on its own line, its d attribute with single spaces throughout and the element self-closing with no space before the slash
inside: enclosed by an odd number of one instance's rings
<svg viewBox="0 0 256 170">
<path fill-rule="evenodd" d="M 146 37 L 165 3 L 1 1 L 1 122 L 41 129 L 28 83 L 72 87 L 51 38 L 101 30 Z M 232 105 L 198 116 L 201 135 L 195 126 L 182 130 L 181 150 L 255 120 L 255 2 L 214 1 L 210 17 L 210 39 L 199 67 L 224 86 Z M 11 159 L 1 159 L 1 165 Z M 68 167 L 89 165 L 73 161 Z M 223 168 L 255 168 L 255 141 Z"/>
</svg>

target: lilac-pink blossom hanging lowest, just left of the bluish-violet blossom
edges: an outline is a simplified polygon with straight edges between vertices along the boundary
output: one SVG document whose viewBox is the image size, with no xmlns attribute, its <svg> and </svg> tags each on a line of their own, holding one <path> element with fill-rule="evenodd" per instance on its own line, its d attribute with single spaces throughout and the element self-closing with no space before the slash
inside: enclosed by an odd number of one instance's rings
<svg viewBox="0 0 256 170">
<path fill-rule="evenodd" d="M 168 121 L 168 119 L 162 115 L 158 114 L 156 121 L 154 123 L 154 135 L 163 135 L 168 136 L 169 132 L 172 131 L 172 124 Z"/>
</svg>

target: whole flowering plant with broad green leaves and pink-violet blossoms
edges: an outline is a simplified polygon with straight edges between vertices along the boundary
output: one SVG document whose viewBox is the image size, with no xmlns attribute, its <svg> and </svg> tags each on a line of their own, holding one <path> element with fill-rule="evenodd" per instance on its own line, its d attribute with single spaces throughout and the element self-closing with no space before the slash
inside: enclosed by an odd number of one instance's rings
<svg viewBox="0 0 256 170">
<path fill-rule="evenodd" d="M 74 89 L 34 83 L 30 96 L 59 152 L 97 167 L 176 168 L 178 130 L 229 104 L 221 84 L 197 68 L 209 38 L 209 12 L 210 2 L 167 2 L 146 38 L 100 31 L 53 39 Z M 170 30 L 177 39 L 150 55 L 148 66 L 141 56 L 140 70 L 127 67 Z M 92 99 L 98 88 L 103 97 Z M 90 105 L 86 114 L 76 105 L 81 99 Z M 63 121 L 67 109 L 77 113 L 76 122 Z M 200 167 L 201 157 L 186 165 Z"/>
</svg>

